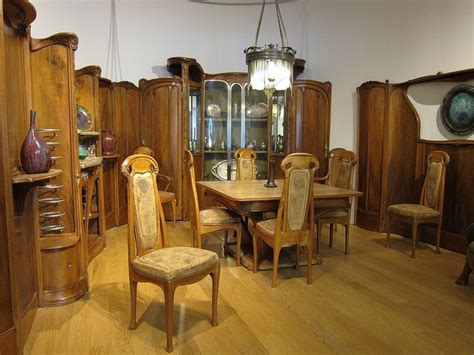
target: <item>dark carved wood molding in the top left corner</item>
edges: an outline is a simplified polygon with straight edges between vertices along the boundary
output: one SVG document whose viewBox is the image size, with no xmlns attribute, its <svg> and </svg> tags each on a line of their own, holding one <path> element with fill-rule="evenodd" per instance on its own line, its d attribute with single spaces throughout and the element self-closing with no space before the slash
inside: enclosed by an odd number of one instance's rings
<svg viewBox="0 0 474 355">
<path fill-rule="evenodd" d="M 28 0 L 5 0 L 3 11 L 7 24 L 21 36 L 26 36 L 36 18 L 36 9 Z"/>
</svg>

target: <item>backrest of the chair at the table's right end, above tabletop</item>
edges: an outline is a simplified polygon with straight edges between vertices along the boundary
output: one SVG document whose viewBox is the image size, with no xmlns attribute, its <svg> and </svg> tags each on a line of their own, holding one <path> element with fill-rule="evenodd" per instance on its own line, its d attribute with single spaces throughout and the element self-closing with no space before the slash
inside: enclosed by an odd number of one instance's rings
<svg viewBox="0 0 474 355">
<path fill-rule="evenodd" d="M 357 160 L 354 152 L 344 148 L 334 148 L 329 152 L 328 185 L 352 188 L 352 176 Z"/>
</svg>

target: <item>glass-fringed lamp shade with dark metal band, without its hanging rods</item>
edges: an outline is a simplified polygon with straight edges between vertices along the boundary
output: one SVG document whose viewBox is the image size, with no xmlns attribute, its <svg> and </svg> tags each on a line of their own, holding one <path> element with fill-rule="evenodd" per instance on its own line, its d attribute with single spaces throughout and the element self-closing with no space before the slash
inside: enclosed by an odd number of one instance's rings
<svg viewBox="0 0 474 355">
<path fill-rule="evenodd" d="M 249 47 L 245 53 L 252 89 L 286 90 L 291 86 L 295 62 L 292 48 L 270 44 L 265 48 Z"/>
</svg>

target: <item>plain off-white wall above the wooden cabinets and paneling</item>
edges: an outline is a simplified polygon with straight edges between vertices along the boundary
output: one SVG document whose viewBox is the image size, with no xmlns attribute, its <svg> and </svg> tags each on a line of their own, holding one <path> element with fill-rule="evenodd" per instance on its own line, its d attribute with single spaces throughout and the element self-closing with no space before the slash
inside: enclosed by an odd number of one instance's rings
<svg viewBox="0 0 474 355">
<path fill-rule="evenodd" d="M 32 3 L 38 10 L 33 36 L 75 32 L 77 67 L 97 64 L 107 75 L 110 1 Z M 333 84 L 333 147 L 356 149 L 361 83 L 474 67 L 471 0 L 294 0 L 280 7 L 289 44 L 307 61 L 302 78 Z M 122 79 L 156 77 L 171 56 L 194 57 L 209 73 L 246 71 L 243 49 L 253 44 L 259 11 L 257 5 L 117 0 Z M 265 14 L 259 44 L 279 40 L 274 7 Z"/>
</svg>

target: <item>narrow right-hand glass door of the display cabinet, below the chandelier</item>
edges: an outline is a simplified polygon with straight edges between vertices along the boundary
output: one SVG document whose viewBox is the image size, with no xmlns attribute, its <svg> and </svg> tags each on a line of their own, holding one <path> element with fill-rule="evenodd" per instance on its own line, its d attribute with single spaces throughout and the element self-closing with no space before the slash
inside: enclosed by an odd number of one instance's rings
<svg viewBox="0 0 474 355">
<path fill-rule="evenodd" d="M 273 155 L 285 154 L 285 91 L 276 91 L 272 97 L 271 152 Z"/>
</svg>

